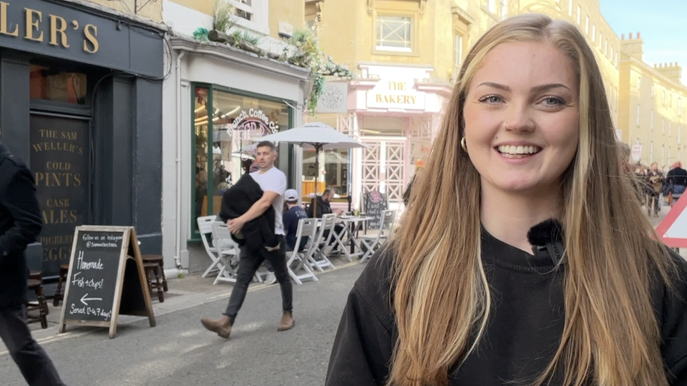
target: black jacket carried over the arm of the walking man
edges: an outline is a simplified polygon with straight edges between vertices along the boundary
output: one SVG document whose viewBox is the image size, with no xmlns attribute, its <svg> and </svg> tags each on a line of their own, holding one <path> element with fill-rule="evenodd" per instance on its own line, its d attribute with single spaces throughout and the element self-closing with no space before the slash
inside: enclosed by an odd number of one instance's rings
<svg viewBox="0 0 687 386">
<path fill-rule="evenodd" d="M 220 219 L 226 222 L 241 217 L 263 197 L 263 193 L 258 182 L 250 174 L 244 174 L 222 196 Z M 232 238 L 249 252 L 256 252 L 264 247 L 277 247 L 279 240 L 275 236 L 275 208 L 270 205 L 260 217 L 248 221 L 241 229 L 241 235 L 243 237 L 238 238 L 232 234 Z"/>
</svg>

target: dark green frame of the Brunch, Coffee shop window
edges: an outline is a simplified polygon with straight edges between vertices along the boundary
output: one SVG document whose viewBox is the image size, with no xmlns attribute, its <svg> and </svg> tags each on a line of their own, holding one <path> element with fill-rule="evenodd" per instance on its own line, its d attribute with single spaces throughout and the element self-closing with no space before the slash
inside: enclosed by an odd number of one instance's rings
<svg viewBox="0 0 687 386">
<path fill-rule="evenodd" d="M 289 108 L 289 127 L 284 128 L 280 127 L 281 129 L 288 130 L 294 127 L 295 123 L 295 112 L 294 108 L 291 107 L 293 105 L 296 105 L 297 103 L 295 101 L 286 101 L 284 98 L 275 98 L 273 96 L 267 96 L 267 95 L 262 95 L 262 94 L 257 94 L 253 93 L 251 91 L 245 91 L 241 89 L 233 89 L 232 87 L 226 87 L 226 86 L 220 86 L 218 84 L 210 84 L 210 83 L 203 83 L 203 82 L 191 82 L 191 86 L 189 87 L 191 95 L 191 103 L 189 105 L 189 108 L 191 109 L 191 117 L 190 117 L 190 124 L 191 124 L 191 129 L 189 130 L 190 134 L 190 139 L 191 139 L 191 154 L 190 154 L 190 160 L 192 162 L 189 162 L 191 167 L 189 167 L 189 173 L 190 173 L 190 181 L 191 184 L 189 186 L 191 190 L 190 194 L 190 207 L 189 207 L 189 217 L 191 219 L 191 232 L 190 232 L 190 238 L 188 241 L 198 241 L 201 240 L 201 233 L 198 232 L 198 222 L 196 221 L 195 213 L 196 213 L 196 189 L 194 188 L 195 184 L 194 181 L 196 180 L 196 172 L 195 172 L 195 167 L 196 165 L 196 146 L 194 144 L 196 143 L 196 133 L 195 133 L 195 124 L 196 124 L 196 117 L 195 114 L 193 114 L 194 110 L 196 110 L 196 89 L 207 89 L 208 90 L 208 105 L 210 106 L 209 108 L 214 110 L 215 105 L 214 105 L 214 94 L 215 91 L 220 91 L 220 92 L 225 92 L 228 94 L 232 94 L 235 96 L 243 96 L 246 98 L 254 98 L 258 99 L 259 101 L 267 101 L 267 102 L 274 102 L 274 103 L 279 103 L 282 105 L 285 105 L 286 107 Z M 208 120 L 208 133 L 213 133 L 215 130 L 213 120 Z M 208 146 L 208 163 L 206 165 L 206 169 L 208 171 L 213 170 L 213 157 L 210 154 L 210 152 L 213 149 L 213 136 L 208 135 L 207 138 L 208 143 L 206 145 Z M 286 181 L 289 181 L 289 184 L 292 184 L 294 181 L 294 176 L 296 175 L 296 171 L 294 170 L 294 145 L 289 143 L 286 144 L 287 146 L 287 159 L 289 160 L 287 162 L 287 172 L 286 172 Z M 208 172 L 208 187 L 214 186 L 214 176 L 213 173 Z M 208 192 L 208 196 L 210 192 Z M 208 213 L 214 213 L 215 208 L 213 208 L 213 200 L 208 200 Z"/>
</svg>

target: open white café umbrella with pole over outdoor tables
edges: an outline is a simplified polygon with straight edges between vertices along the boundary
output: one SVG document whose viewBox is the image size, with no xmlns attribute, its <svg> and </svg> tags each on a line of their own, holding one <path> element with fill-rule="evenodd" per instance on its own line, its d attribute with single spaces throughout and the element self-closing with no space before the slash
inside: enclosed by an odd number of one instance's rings
<svg viewBox="0 0 687 386">
<path fill-rule="evenodd" d="M 315 150 L 315 170 L 317 171 L 315 173 L 315 194 L 317 194 L 317 179 L 320 176 L 320 161 L 317 156 L 320 155 L 322 150 L 367 147 L 357 139 L 336 131 L 334 127 L 322 122 L 311 122 L 302 127 L 294 127 L 294 129 L 258 137 L 253 139 L 253 141 L 294 143 L 303 149 Z M 315 213 L 317 213 L 317 198 L 315 198 L 315 206 L 313 207 L 313 214 Z"/>
</svg>

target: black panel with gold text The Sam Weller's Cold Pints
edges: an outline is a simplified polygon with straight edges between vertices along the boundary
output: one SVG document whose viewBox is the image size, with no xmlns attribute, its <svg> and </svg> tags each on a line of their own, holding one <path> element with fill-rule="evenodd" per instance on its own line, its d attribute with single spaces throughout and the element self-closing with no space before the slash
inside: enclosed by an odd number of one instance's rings
<svg viewBox="0 0 687 386">
<path fill-rule="evenodd" d="M 89 221 L 90 117 L 32 111 L 30 168 L 43 229 L 43 277 L 56 278 L 68 264 L 75 226 Z"/>
</svg>

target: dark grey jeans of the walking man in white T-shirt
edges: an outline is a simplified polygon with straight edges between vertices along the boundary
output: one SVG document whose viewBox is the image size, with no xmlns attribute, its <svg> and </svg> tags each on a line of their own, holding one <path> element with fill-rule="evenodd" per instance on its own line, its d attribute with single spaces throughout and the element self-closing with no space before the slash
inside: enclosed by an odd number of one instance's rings
<svg viewBox="0 0 687 386">
<path fill-rule="evenodd" d="M 229 304 L 225 315 L 229 316 L 232 325 L 236 320 L 237 314 L 241 305 L 246 299 L 246 292 L 248 285 L 253 281 L 256 271 L 260 268 L 260 264 L 267 260 L 275 270 L 275 276 L 279 282 L 279 287 L 282 289 L 282 310 L 291 311 L 294 309 L 294 286 L 291 284 L 291 277 L 289 270 L 286 269 L 286 240 L 284 236 L 277 236 L 279 238 L 279 250 L 269 252 L 265 249 L 255 254 L 249 254 L 241 248 L 239 255 L 239 271 L 237 272 L 237 282 L 234 284 L 232 296 L 229 297 Z"/>
</svg>

